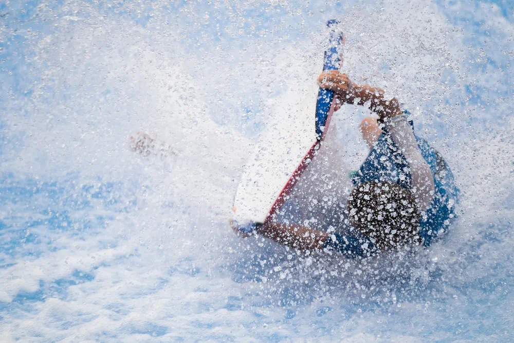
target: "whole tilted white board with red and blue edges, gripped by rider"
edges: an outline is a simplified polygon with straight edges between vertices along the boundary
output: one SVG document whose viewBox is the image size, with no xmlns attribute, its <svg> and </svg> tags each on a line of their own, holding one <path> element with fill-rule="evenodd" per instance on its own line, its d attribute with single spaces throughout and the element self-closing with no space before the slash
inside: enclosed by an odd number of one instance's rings
<svg viewBox="0 0 514 343">
<path fill-rule="evenodd" d="M 334 28 L 334 24 L 338 23 L 329 21 L 327 26 L 331 28 L 332 25 Z M 325 52 L 324 70 L 339 68 L 340 51 L 337 49 L 343 43 L 341 32 L 331 32 L 329 50 Z M 314 96 L 316 92 L 318 97 Z M 335 97 L 331 91 L 318 88 L 314 82 L 307 93 L 313 96 L 304 97 L 300 105 L 297 101 L 280 104 L 277 111 L 279 115 L 266 123 L 267 129 L 245 165 L 237 187 L 232 208 L 236 223 L 265 223 L 280 212 L 287 200 L 295 197 L 293 193 L 298 197 L 298 194 L 308 192 L 312 198 L 316 190 L 326 187 L 320 184 L 320 177 L 344 169 L 340 166 L 341 161 L 334 163 L 336 155 L 327 149 L 327 145 L 331 144 L 325 142 L 334 113 Z M 298 99 L 300 96 L 290 94 L 286 98 Z M 316 114 L 315 130 L 313 112 Z M 337 167 L 334 169 L 333 166 Z M 305 173 L 306 170 L 310 172 Z M 308 191 L 295 190 L 300 183 Z M 308 204 L 304 205 L 308 207 Z"/>
</svg>

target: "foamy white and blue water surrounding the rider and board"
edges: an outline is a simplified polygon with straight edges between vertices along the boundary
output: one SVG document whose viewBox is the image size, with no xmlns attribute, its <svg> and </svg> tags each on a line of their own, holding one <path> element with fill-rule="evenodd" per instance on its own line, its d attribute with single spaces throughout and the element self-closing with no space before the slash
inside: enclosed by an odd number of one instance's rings
<svg viewBox="0 0 514 343">
<path fill-rule="evenodd" d="M 2 340 L 511 340 L 512 11 L 0 4 Z M 331 17 L 345 70 L 405 102 L 463 191 L 449 237 L 415 258 L 306 256 L 227 224 L 266 119 L 319 73 Z M 342 140 L 366 115 L 348 111 Z M 136 156 L 137 130 L 173 153 Z M 362 142 L 347 151 L 358 163 Z"/>
</svg>

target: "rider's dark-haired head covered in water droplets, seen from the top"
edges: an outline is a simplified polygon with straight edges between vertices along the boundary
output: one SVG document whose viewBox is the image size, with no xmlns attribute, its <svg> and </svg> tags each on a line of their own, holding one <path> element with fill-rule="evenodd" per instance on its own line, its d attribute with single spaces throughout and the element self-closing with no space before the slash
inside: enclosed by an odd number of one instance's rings
<svg viewBox="0 0 514 343">
<path fill-rule="evenodd" d="M 414 195 L 392 183 L 365 182 L 348 197 L 350 222 L 383 250 L 419 242 Z"/>
</svg>

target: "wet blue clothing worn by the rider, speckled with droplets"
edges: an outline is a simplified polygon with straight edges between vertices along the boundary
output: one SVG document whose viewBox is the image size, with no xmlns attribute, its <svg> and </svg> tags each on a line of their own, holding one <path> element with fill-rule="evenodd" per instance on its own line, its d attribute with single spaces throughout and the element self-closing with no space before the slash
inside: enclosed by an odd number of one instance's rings
<svg viewBox="0 0 514 343">
<path fill-rule="evenodd" d="M 412 121 L 409 122 L 413 127 Z M 411 189 L 412 177 L 409 163 L 396 146 L 384 125 L 373 149 L 352 178 L 355 186 L 369 181 L 395 183 Z M 421 211 L 419 237 L 425 247 L 442 237 L 455 219 L 455 204 L 459 190 L 453 174 L 443 157 L 426 140 L 415 136 L 421 156 L 430 167 L 434 178 L 434 197 L 430 206 Z M 350 234 L 333 234 L 323 248 L 335 249 L 345 257 L 357 258 L 373 256 L 379 249 L 364 235 L 353 229 Z"/>
</svg>

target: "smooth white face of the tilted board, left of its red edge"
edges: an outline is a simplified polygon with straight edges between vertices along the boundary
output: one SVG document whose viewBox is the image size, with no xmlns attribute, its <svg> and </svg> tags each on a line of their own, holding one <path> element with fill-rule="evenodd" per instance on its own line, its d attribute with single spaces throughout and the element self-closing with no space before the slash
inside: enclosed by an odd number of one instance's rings
<svg viewBox="0 0 514 343">
<path fill-rule="evenodd" d="M 316 142 L 313 113 L 317 86 L 300 106 L 283 103 L 266 123 L 255 151 L 244 167 L 234 199 L 234 220 L 263 223 L 289 179 Z M 291 94 L 289 99 L 298 95 Z"/>
</svg>

